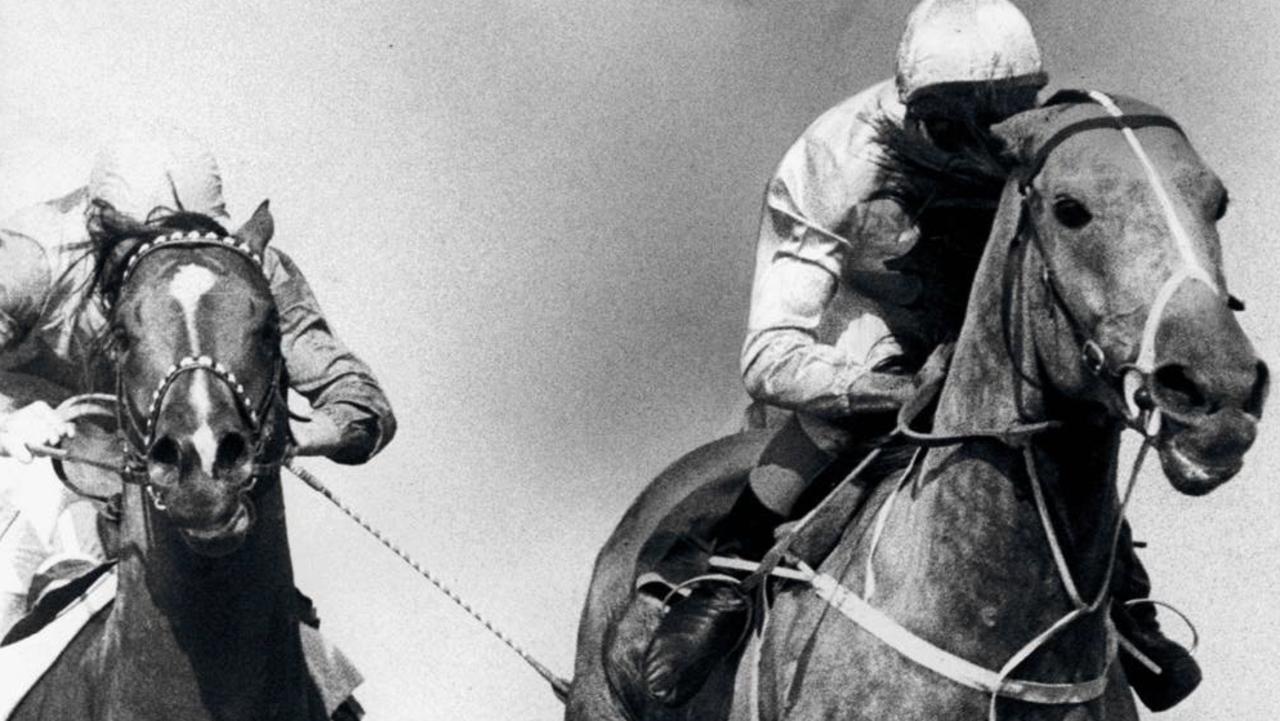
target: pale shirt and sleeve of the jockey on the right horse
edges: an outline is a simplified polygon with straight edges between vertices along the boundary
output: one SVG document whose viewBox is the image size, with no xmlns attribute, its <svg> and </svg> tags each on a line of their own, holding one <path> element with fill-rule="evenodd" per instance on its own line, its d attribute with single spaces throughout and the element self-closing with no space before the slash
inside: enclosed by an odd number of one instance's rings
<svg viewBox="0 0 1280 721">
<path fill-rule="evenodd" d="M 909 279 L 876 270 L 902 252 L 911 224 L 892 201 L 869 200 L 882 174 L 876 122 L 901 113 L 892 82 L 855 95 L 819 117 L 769 181 L 741 356 L 753 398 L 845 417 L 867 373 L 901 353 L 890 306 L 911 298 L 893 284 Z M 870 293 L 851 282 L 859 274 L 890 284 Z"/>
</svg>

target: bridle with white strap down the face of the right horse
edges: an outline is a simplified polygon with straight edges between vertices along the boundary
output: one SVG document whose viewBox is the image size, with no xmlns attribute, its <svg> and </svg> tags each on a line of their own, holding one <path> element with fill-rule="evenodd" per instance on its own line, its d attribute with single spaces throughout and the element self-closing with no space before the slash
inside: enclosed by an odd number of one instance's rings
<svg viewBox="0 0 1280 721">
<path fill-rule="evenodd" d="M 1080 346 L 1080 359 L 1084 368 L 1089 370 L 1094 377 L 1101 378 L 1106 382 L 1108 388 L 1120 397 L 1123 409 L 1125 410 L 1125 423 L 1142 433 L 1146 437 L 1153 437 L 1158 433 L 1160 414 L 1155 411 L 1155 400 L 1152 397 L 1152 377 L 1156 371 L 1156 334 L 1160 330 L 1160 325 L 1164 320 L 1165 311 L 1169 307 L 1169 301 L 1172 300 L 1174 293 L 1187 283 L 1188 280 L 1199 280 L 1206 284 L 1213 293 L 1222 297 L 1225 293 L 1219 287 L 1213 277 L 1204 269 L 1204 266 L 1196 257 L 1192 248 L 1190 236 L 1187 233 L 1183 223 L 1178 219 L 1174 210 L 1172 201 L 1165 188 L 1164 181 L 1156 166 L 1152 164 L 1151 159 L 1147 156 L 1146 150 L 1138 141 L 1138 136 L 1134 133 L 1137 129 L 1142 128 L 1170 128 L 1178 131 L 1179 134 L 1185 137 L 1181 127 L 1174 122 L 1172 118 L 1167 115 L 1153 115 L 1153 114 L 1138 114 L 1128 115 L 1125 114 L 1115 101 L 1107 95 L 1098 91 L 1088 91 L 1084 97 L 1089 101 L 1101 105 L 1107 115 L 1100 118 L 1088 118 L 1084 120 L 1078 120 L 1071 123 L 1062 129 L 1057 131 L 1051 136 L 1037 151 L 1032 163 L 1027 165 L 1027 170 L 1018 179 L 1018 187 L 1021 193 L 1021 205 L 1019 209 L 1019 222 L 1018 227 L 1027 228 L 1032 245 L 1041 256 L 1043 263 L 1043 270 L 1041 273 L 1041 280 L 1048 289 L 1048 297 L 1059 312 L 1066 319 L 1068 325 L 1071 329 L 1071 334 Z M 1098 343 L 1084 328 L 1084 324 L 1079 320 L 1071 307 L 1066 304 L 1062 295 L 1061 287 L 1059 284 L 1059 274 L 1052 266 L 1048 252 L 1044 250 L 1044 242 L 1041 237 L 1039 229 L 1036 223 L 1030 219 L 1030 202 L 1033 198 L 1039 198 L 1039 193 L 1033 186 L 1033 181 L 1039 175 L 1043 169 L 1044 163 L 1048 160 L 1050 154 L 1057 149 L 1066 140 L 1089 131 L 1098 129 L 1112 129 L 1119 131 L 1125 141 L 1128 142 L 1130 150 L 1138 158 L 1146 172 L 1148 184 L 1156 195 L 1160 202 L 1161 211 L 1165 216 L 1166 224 L 1169 225 L 1170 236 L 1174 241 L 1174 248 L 1178 254 L 1179 266 L 1170 274 L 1169 278 L 1161 284 L 1160 291 L 1156 292 L 1156 297 L 1151 305 L 1151 310 L 1147 314 L 1147 320 L 1143 324 L 1142 339 L 1138 347 L 1138 356 L 1133 361 L 1115 361 L 1108 359 L 1102 344 Z M 1014 243 L 1019 243 L 1020 233 L 1014 234 Z M 1012 352 L 1012 341 L 1010 338 L 1010 316 L 1011 316 L 1011 304 L 1007 297 L 1007 291 L 1011 289 L 1011 283 L 1016 282 L 1018 271 L 1014 269 L 1014 264 L 1020 261 L 1023 257 L 1021 247 L 1014 247 L 1009 254 L 1010 268 L 1005 275 L 1006 287 L 1006 301 L 1005 307 L 1005 339 L 1006 344 Z M 1228 305 L 1233 309 L 1243 307 L 1238 300 L 1228 296 Z M 1018 356 L 1012 356 L 1018 357 Z M 1016 364 L 1015 364 L 1016 365 Z M 1020 366 L 1019 374 L 1023 375 L 1024 380 L 1036 383 L 1034 379 L 1028 378 Z"/>
</svg>

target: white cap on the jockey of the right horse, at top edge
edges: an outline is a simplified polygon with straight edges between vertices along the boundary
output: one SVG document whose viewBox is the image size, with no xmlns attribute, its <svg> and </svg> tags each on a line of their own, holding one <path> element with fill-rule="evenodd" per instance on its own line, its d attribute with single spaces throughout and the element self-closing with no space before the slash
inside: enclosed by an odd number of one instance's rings
<svg viewBox="0 0 1280 721">
<path fill-rule="evenodd" d="M 1046 82 L 1032 26 L 1009 0 L 923 0 L 906 18 L 896 79 L 902 102 L 946 83 Z"/>
</svg>

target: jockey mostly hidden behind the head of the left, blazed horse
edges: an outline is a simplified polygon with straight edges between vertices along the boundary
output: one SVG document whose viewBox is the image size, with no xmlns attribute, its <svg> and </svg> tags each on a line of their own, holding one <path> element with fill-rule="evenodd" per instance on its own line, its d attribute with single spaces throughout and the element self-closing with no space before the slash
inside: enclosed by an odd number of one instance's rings
<svg viewBox="0 0 1280 721">
<path fill-rule="evenodd" d="M 114 389 L 111 366 L 97 352 L 106 318 L 93 284 L 95 238 L 87 222 L 99 202 L 137 220 L 168 209 L 228 222 L 214 156 L 188 136 L 164 133 L 109 143 L 87 187 L 24 209 L 0 227 L 0 456 L 31 462 L 28 446 L 55 446 L 74 433 L 51 405 Z M 396 433 L 387 397 L 369 366 L 329 329 L 293 261 L 270 246 L 264 268 L 279 307 L 289 385 L 314 411 L 310 423 L 291 428 L 294 453 L 367 461 Z M 97 561 L 110 555 L 99 544 L 93 514 L 88 521 L 79 514 L 78 524 L 68 517 L 76 496 L 51 473 L 29 475 L 19 483 L 40 488 L 12 496 L 31 502 L 19 503 L 15 516 L 10 508 L 8 524 L 0 519 L 0 636 L 26 612 L 32 575 L 51 553 Z"/>
</svg>

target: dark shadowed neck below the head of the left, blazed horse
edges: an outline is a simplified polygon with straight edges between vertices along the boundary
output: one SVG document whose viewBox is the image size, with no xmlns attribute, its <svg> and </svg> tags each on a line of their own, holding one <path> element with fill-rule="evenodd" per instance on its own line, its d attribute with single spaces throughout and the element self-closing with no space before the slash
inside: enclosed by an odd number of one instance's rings
<svg viewBox="0 0 1280 721">
<path fill-rule="evenodd" d="M 109 638 L 131 717 L 262 718 L 297 689 L 301 647 L 278 483 L 257 498 L 244 544 L 192 553 L 138 487 L 127 488 Z M 285 713 L 285 716 L 288 716 Z"/>
</svg>

